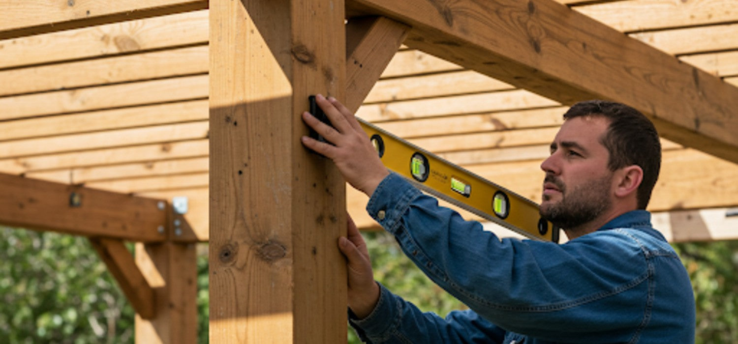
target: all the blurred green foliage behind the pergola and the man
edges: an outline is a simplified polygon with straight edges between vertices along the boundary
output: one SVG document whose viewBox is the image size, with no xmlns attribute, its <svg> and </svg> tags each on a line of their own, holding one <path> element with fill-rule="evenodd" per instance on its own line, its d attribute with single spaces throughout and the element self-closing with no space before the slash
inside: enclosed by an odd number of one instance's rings
<svg viewBox="0 0 738 344">
<path fill-rule="evenodd" d="M 384 232 L 366 233 L 375 277 L 420 309 L 465 306 Z M 738 343 L 738 241 L 675 245 L 697 300 L 697 343 Z M 199 247 L 199 343 L 207 343 L 207 245 Z M 0 226 L 0 344 L 134 343 L 134 312 L 86 239 Z M 349 330 L 349 343 L 359 343 Z"/>
</svg>

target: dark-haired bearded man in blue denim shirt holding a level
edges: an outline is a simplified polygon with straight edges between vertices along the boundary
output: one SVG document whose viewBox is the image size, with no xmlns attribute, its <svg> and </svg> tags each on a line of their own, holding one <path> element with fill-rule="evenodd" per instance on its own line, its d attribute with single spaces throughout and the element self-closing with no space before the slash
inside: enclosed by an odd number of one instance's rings
<svg viewBox="0 0 738 344">
<path fill-rule="evenodd" d="M 645 211 L 661 165 L 653 124 L 625 105 L 574 105 L 551 143 L 543 217 L 564 245 L 500 240 L 441 208 L 387 172 L 351 112 L 318 104 L 335 128 L 304 121 L 331 144 L 303 138 L 331 158 L 369 214 L 436 284 L 469 306 L 444 319 L 373 281 L 367 250 L 349 221 L 351 324 L 368 343 L 694 343 L 694 296 L 680 259 Z"/>
</svg>

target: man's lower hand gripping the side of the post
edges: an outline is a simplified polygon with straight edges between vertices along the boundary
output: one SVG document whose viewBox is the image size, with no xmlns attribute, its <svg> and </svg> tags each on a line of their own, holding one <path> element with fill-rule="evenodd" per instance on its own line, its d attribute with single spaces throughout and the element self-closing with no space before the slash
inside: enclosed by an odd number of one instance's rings
<svg viewBox="0 0 738 344">
<path fill-rule="evenodd" d="M 379 286 L 374 281 L 366 242 L 351 216 L 348 216 L 348 238 L 341 236 L 338 248 L 348 259 L 348 306 L 356 317 L 363 319 L 379 301 Z"/>
</svg>

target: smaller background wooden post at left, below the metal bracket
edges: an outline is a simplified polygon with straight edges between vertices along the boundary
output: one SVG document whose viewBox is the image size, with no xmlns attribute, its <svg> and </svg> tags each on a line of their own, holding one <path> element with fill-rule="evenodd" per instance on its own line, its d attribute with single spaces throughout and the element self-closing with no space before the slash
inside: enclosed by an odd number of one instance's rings
<svg viewBox="0 0 738 344">
<path fill-rule="evenodd" d="M 197 343 L 197 253 L 194 244 L 136 243 L 136 264 L 154 288 L 156 316 L 136 315 L 136 343 Z"/>
</svg>

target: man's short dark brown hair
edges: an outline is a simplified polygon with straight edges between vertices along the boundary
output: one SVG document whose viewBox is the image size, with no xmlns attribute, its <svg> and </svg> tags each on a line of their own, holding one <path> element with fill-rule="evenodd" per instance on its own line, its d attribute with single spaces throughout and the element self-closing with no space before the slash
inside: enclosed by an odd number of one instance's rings
<svg viewBox="0 0 738 344">
<path fill-rule="evenodd" d="M 607 167 L 615 171 L 630 165 L 641 166 L 644 177 L 637 198 L 638 208 L 645 209 L 661 169 L 661 142 L 653 123 L 628 105 L 604 100 L 578 102 L 564 113 L 565 120 L 580 116 L 604 116 L 609 120 L 607 133 L 600 138 L 610 152 Z"/>
</svg>

